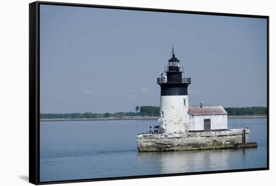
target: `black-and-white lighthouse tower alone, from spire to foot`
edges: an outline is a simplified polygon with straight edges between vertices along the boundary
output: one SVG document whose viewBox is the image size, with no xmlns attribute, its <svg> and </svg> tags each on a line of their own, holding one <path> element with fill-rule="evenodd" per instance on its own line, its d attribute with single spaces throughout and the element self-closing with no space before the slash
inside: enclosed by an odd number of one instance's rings
<svg viewBox="0 0 276 186">
<path fill-rule="evenodd" d="M 188 86 L 191 78 L 185 78 L 180 60 L 176 58 L 174 47 L 172 57 L 165 67 L 166 75 L 157 78 L 161 87 L 160 133 L 185 133 L 189 131 Z"/>
</svg>

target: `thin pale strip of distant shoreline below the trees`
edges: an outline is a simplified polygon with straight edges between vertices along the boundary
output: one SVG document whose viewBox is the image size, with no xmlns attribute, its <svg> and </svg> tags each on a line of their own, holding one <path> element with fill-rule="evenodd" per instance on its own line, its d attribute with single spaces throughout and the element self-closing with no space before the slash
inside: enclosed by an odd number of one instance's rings
<svg viewBox="0 0 276 186">
<path fill-rule="evenodd" d="M 244 116 L 228 116 L 228 118 L 266 118 L 267 116 L 244 115 Z M 148 120 L 158 119 L 159 116 L 124 116 L 124 117 L 107 117 L 107 118 L 53 118 L 40 119 L 40 121 L 99 121 L 99 120 Z"/>
</svg>

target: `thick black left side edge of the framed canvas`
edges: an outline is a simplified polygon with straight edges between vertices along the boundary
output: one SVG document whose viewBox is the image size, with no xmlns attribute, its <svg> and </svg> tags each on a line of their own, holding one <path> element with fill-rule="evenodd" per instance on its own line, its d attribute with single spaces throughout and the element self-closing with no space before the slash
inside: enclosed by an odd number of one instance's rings
<svg viewBox="0 0 276 186">
<path fill-rule="evenodd" d="M 29 182 L 39 183 L 39 13 L 29 4 Z"/>
</svg>

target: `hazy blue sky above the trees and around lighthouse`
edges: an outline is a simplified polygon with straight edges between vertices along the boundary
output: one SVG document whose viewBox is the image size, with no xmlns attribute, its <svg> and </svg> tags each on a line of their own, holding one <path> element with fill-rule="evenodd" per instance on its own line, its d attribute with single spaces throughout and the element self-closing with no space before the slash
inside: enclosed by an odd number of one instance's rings
<svg viewBox="0 0 276 186">
<path fill-rule="evenodd" d="M 41 113 L 160 104 L 171 57 L 191 77 L 190 106 L 266 106 L 266 20 L 41 5 Z"/>
</svg>

